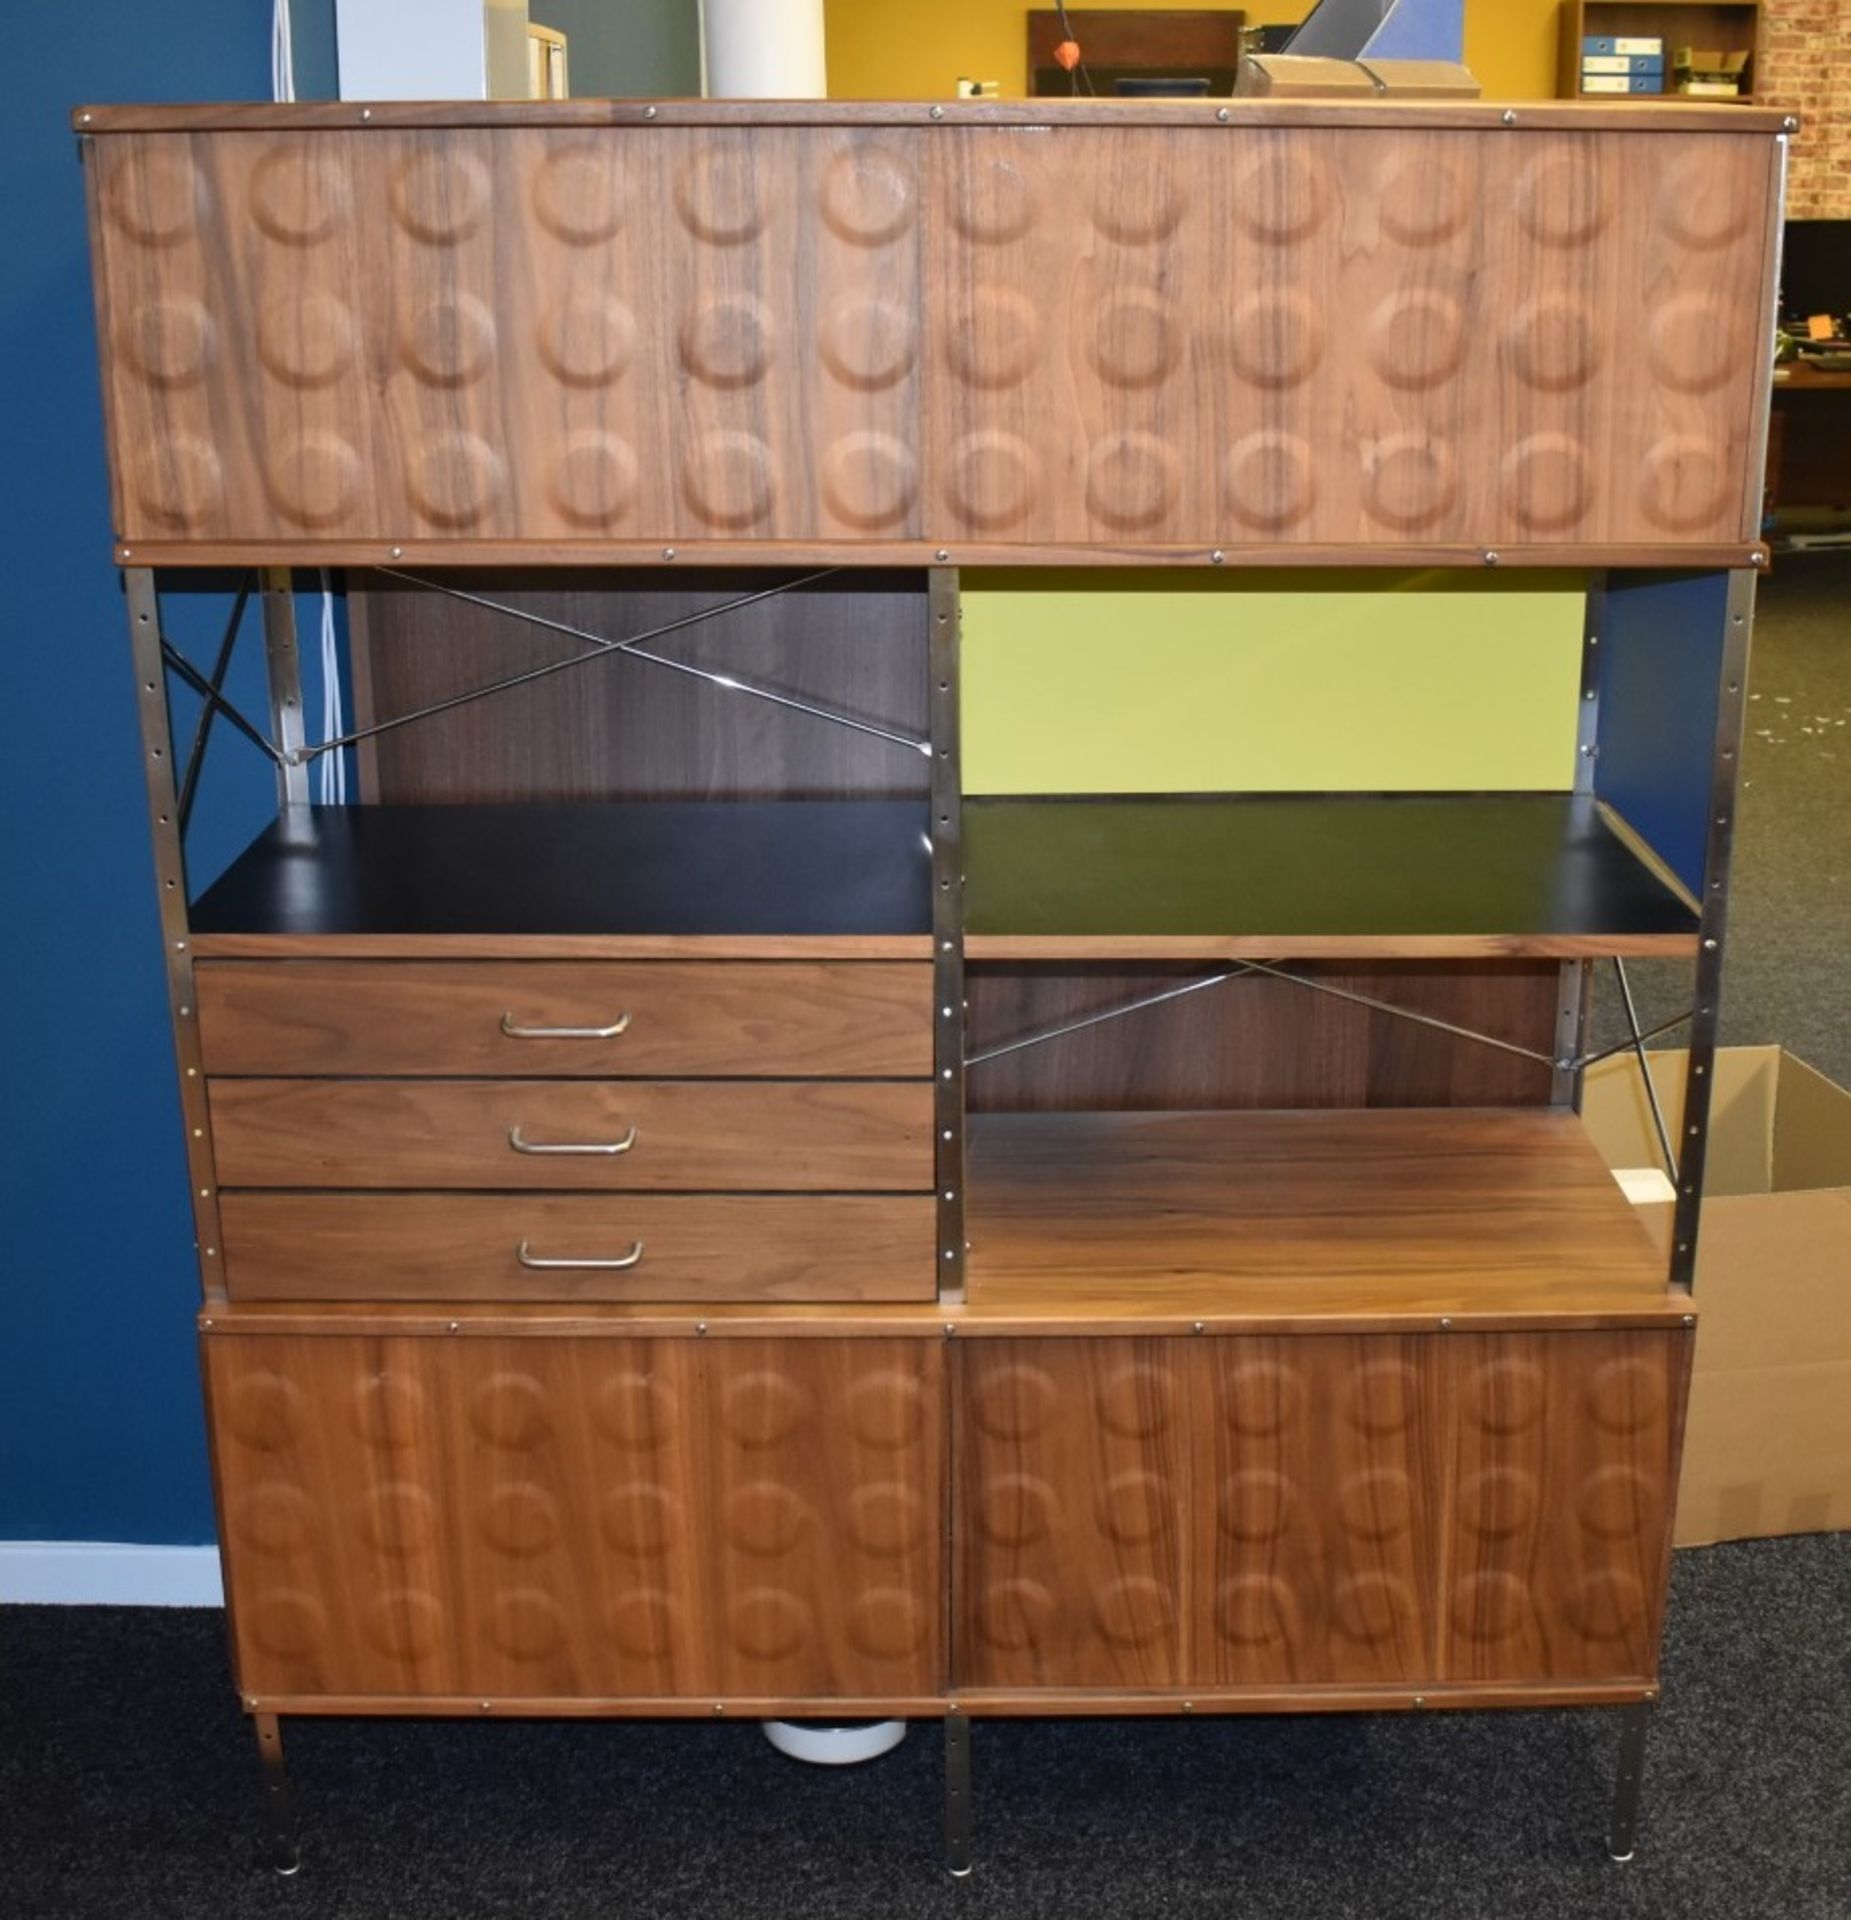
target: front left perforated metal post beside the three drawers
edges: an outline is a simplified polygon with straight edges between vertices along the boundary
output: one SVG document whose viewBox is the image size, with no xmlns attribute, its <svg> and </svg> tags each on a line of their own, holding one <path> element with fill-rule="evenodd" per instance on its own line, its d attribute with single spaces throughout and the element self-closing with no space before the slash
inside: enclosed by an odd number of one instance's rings
<svg viewBox="0 0 1851 1920">
<path fill-rule="evenodd" d="M 123 574 L 129 603 L 129 647 L 134 657 L 136 716 L 142 726 L 142 772 L 148 781 L 148 826 L 154 833 L 154 885 L 161 910 L 161 950 L 167 958 L 167 1012 L 180 1069 L 180 1116 L 186 1123 L 186 1173 L 192 1181 L 192 1225 L 207 1302 L 225 1300 L 219 1258 L 219 1177 L 205 1127 L 205 1073 L 200 1062 L 200 1021 L 192 985 L 192 929 L 186 924 L 186 851 L 180 803 L 173 780 L 173 722 L 167 710 L 167 672 L 161 664 L 161 605 L 154 572 Z"/>
</svg>

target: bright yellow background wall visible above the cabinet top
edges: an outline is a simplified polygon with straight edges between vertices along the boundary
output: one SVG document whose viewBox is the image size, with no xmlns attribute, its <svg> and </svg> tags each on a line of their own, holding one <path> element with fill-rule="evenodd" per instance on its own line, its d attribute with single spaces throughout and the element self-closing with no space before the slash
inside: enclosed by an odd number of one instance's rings
<svg viewBox="0 0 1851 1920">
<path fill-rule="evenodd" d="M 1175 0 L 1119 0 L 1171 6 Z M 1486 98 L 1555 92 L 1557 0 L 1465 0 L 1465 61 Z M 1304 0 L 1252 0 L 1254 25 L 1302 19 Z M 949 100 L 960 75 L 1027 92 L 1027 8 L 998 0 L 824 0 L 829 94 Z"/>
</svg>

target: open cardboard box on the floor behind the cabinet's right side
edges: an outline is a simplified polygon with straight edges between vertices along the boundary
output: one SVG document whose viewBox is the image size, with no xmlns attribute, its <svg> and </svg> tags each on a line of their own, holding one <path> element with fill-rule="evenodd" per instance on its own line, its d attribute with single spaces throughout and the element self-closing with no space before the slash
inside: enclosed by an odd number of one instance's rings
<svg viewBox="0 0 1851 1920">
<path fill-rule="evenodd" d="M 1682 1052 L 1653 1052 L 1672 1140 Z M 1630 1056 L 1582 1119 L 1615 1169 L 1661 1165 Z M 1678 1546 L 1851 1528 L 1851 1092 L 1778 1046 L 1717 1054 Z M 1659 1188 L 1663 1192 L 1663 1188 Z M 1671 1206 L 1640 1217 L 1671 1244 Z"/>
</svg>

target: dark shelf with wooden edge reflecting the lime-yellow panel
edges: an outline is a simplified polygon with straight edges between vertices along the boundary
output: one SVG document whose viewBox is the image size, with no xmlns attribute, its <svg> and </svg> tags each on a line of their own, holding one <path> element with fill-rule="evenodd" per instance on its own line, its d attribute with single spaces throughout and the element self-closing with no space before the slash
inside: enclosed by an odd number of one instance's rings
<svg viewBox="0 0 1851 1920">
<path fill-rule="evenodd" d="M 966 803 L 972 960 L 1688 954 L 1575 793 Z"/>
</svg>

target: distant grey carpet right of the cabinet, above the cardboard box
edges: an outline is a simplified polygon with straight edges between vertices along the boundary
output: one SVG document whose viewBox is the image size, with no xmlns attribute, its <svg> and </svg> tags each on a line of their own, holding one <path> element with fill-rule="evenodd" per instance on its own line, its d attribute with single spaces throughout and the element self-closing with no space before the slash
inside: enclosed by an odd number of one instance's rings
<svg viewBox="0 0 1851 1920">
<path fill-rule="evenodd" d="M 1761 582 L 1747 712 L 1722 1044 L 1780 1044 L 1851 1087 L 1851 553 L 1788 553 Z M 1628 973 L 1646 1025 L 1690 1004 L 1688 966 Z M 1603 1046 L 1613 1002 L 1601 968 Z"/>
</svg>

